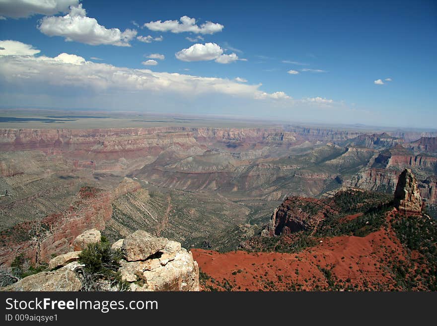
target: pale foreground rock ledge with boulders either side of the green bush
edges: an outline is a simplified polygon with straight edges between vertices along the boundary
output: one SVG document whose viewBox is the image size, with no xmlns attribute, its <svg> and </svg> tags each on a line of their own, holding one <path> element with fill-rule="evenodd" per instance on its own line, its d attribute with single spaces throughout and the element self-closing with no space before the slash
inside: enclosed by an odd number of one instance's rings
<svg viewBox="0 0 437 326">
<path fill-rule="evenodd" d="M 80 249 L 53 258 L 46 271 L 26 276 L 1 288 L 1 291 L 80 291 L 86 290 L 83 269 L 79 262 L 81 250 L 100 242 L 96 230 L 87 230 L 74 241 Z M 91 237 L 92 235 L 92 237 Z M 191 252 L 179 242 L 157 238 L 143 230 L 128 235 L 112 245 L 120 251 L 118 273 L 131 291 L 199 291 L 199 266 Z M 109 281 L 99 280 L 100 290 L 116 291 Z"/>
</svg>

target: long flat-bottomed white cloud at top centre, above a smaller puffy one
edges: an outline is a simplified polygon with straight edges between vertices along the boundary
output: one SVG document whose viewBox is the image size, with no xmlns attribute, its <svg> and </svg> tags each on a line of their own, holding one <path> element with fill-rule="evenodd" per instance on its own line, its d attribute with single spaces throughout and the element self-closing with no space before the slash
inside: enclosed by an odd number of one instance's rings
<svg viewBox="0 0 437 326">
<path fill-rule="evenodd" d="M 178 20 L 166 20 L 162 22 L 161 20 L 151 21 L 145 23 L 144 27 L 147 27 L 151 31 L 159 32 L 172 32 L 172 33 L 182 33 L 182 32 L 192 32 L 195 34 L 214 34 L 221 32 L 223 25 L 218 23 L 213 23 L 207 21 L 206 23 L 198 26 L 196 25 L 196 19 L 190 18 L 188 16 L 182 16 L 180 21 Z"/>
</svg>

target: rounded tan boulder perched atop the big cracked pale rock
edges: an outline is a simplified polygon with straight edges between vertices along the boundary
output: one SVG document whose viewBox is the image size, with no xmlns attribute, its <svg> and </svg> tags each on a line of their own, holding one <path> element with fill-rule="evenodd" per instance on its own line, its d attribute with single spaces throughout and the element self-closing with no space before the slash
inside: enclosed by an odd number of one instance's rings
<svg viewBox="0 0 437 326">
<path fill-rule="evenodd" d="M 122 251 L 127 261 L 145 261 L 163 249 L 167 242 L 165 238 L 156 238 L 144 230 L 137 230 L 124 239 Z"/>
</svg>

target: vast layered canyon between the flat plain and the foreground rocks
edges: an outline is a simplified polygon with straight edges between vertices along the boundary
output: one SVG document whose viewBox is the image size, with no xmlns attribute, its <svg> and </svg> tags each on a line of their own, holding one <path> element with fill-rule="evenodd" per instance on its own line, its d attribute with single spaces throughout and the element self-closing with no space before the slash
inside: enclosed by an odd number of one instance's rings
<svg viewBox="0 0 437 326">
<path fill-rule="evenodd" d="M 1 129 L 0 190 L 12 196 L 0 197 L 0 265 L 18 254 L 48 262 L 90 228 L 110 241 L 144 229 L 187 249 L 235 250 L 320 223 L 338 192 L 393 194 L 404 168 L 433 208 L 434 139 L 291 125 Z M 290 196 L 324 210 L 287 219 Z M 269 227 L 274 210 L 280 227 Z"/>
</svg>

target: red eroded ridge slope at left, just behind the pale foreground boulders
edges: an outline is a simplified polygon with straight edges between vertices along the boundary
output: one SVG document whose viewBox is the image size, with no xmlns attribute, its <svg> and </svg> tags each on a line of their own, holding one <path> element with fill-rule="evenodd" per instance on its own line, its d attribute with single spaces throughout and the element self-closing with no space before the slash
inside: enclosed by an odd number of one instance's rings
<svg viewBox="0 0 437 326">
<path fill-rule="evenodd" d="M 125 178 L 113 191 L 80 188 L 73 204 L 41 220 L 18 223 L 1 233 L 0 265 L 10 265 L 24 254 L 33 263 L 48 262 L 51 255 L 70 251 L 73 240 L 86 229 L 104 230 L 112 216 L 112 202 L 135 192 L 140 185 Z"/>
</svg>

